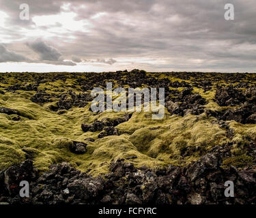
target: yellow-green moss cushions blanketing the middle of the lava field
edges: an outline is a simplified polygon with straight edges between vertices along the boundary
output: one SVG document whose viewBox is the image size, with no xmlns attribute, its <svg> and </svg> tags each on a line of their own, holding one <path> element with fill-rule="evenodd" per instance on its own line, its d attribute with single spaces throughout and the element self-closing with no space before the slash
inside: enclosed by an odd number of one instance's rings
<svg viewBox="0 0 256 218">
<path fill-rule="evenodd" d="M 181 79 L 169 74 L 148 74 L 156 78 L 169 78 L 171 82 L 189 82 L 192 78 Z M 35 77 L 42 77 L 44 82 L 38 90 L 57 95 L 68 90 L 81 93 L 79 80 L 89 81 L 87 74 L 1 74 L 0 90 L 5 91 L 14 84 L 35 84 Z M 58 79 L 57 76 L 61 76 Z M 211 74 L 205 74 L 210 78 Z M 125 76 L 124 76 L 125 77 Z M 247 78 L 245 79 L 250 80 Z M 65 78 L 63 80 L 63 78 Z M 218 78 L 216 76 L 216 78 Z M 255 78 L 255 75 L 253 75 Z M 214 81 L 213 81 L 214 82 Z M 227 81 L 218 79 L 218 83 Z M 217 82 L 214 82 L 216 84 Z M 173 89 L 173 88 L 171 88 Z M 182 88 L 177 88 L 179 91 Z M 214 87 L 210 91 L 203 91 L 194 87 L 194 91 L 204 97 L 208 104 L 204 107 L 211 110 L 222 110 L 214 102 Z M 150 112 L 134 112 L 129 121 L 117 125 L 120 136 L 106 136 L 98 138 L 98 132 L 83 132 L 82 123 L 93 123 L 106 117 L 111 119 L 124 116 L 124 112 L 102 112 L 96 114 L 85 108 L 72 107 L 63 114 L 49 109 L 57 104 L 53 102 L 43 105 L 31 102 L 30 98 L 36 91 L 7 91 L 0 93 L 0 107 L 18 110 L 20 121 L 13 121 L 16 115 L 0 114 L 0 170 L 25 160 L 26 153 L 33 153 L 35 167 L 47 170 L 52 163 L 63 161 L 72 163 L 79 170 L 87 171 L 96 176 L 108 172 L 108 163 L 115 159 L 137 156 L 130 159 L 135 166 L 158 168 L 167 164 L 184 166 L 199 159 L 214 146 L 232 142 L 231 159 L 224 162 L 225 166 L 234 163 L 236 166 L 249 165 L 253 159 L 246 156 L 246 144 L 256 140 L 256 125 L 242 125 L 235 121 L 228 121 L 233 131 L 233 138 L 227 137 L 227 131 L 218 125 L 214 117 L 188 114 L 184 117 L 171 115 L 165 111 L 165 118 L 152 120 Z M 95 142 L 86 141 L 94 138 Z M 70 152 L 69 144 L 72 140 L 87 143 L 87 153 L 75 155 Z"/>
</svg>

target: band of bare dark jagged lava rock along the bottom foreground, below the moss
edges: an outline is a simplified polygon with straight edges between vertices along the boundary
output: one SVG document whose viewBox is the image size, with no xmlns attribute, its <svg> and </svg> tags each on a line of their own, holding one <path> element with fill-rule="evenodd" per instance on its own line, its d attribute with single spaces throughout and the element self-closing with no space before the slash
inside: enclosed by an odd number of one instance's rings
<svg viewBox="0 0 256 218">
<path fill-rule="evenodd" d="M 109 174 L 91 177 L 68 163 L 55 164 L 41 176 L 27 160 L 0 172 L 0 202 L 9 204 L 255 204 L 256 166 L 224 170 L 221 157 L 209 153 L 186 168 L 135 168 L 118 159 Z M 19 183 L 30 185 L 20 198 Z M 234 198 L 226 198 L 225 181 L 233 181 Z"/>
</svg>

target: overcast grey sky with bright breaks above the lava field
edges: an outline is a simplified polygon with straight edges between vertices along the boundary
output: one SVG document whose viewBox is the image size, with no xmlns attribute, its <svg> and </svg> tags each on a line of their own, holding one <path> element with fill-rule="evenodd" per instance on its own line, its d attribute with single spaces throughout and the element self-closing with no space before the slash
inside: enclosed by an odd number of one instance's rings
<svg viewBox="0 0 256 218">
<path fill-rule="evenodd" d="M 29 20 L 20 19 L 20 4 Z M 233 3 L 235 20 L 225 20 Z M 256 72 L 255 0 L 0 0 L 0 72 Z"/>
</svg>

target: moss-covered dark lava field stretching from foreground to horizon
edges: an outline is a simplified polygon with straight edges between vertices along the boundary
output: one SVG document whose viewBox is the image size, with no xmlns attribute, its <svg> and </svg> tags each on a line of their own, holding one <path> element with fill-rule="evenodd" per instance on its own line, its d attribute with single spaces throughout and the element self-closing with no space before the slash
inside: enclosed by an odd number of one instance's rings
<svg viewBox="0 0 256 218">
<path fill-rule="evenodd" d="M 92 112 L 106 82 L 165 88 L 164 119 Z M 256 74 L 0 74 L 0 203 L 255 204 L 255 102 Z"/>
</svg>

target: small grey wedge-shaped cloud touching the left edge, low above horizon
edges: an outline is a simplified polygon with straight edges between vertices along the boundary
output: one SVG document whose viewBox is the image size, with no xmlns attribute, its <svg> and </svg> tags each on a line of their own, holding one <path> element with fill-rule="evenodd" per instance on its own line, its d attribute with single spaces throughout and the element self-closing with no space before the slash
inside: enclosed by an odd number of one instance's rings
<svg viewBox="0 0 256 218">
<path fill-rule="evenodd" d="M 24 61 L 29 61 L 29 59 L 27 59 L 23 55 L 18 55 L 15 52 L 8 50 L 3 44 L 0 44 L 0 63 Z"/>
</svg>

